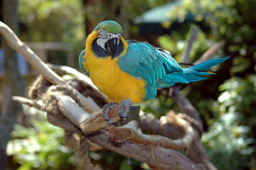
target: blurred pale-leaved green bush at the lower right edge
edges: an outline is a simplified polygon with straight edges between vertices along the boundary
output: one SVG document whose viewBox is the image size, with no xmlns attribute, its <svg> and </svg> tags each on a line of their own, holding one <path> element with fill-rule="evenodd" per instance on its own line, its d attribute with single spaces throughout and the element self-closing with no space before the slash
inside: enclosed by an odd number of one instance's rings
<svg viewBox="0 0 256 170">
<path fill-rule="evenodd" d="M 222 115 L 202 136 L 202 143 L 220 170 L 250 167 L 249 157 L 255 154 L 255 80 L 255 74 L 233 77 L 219 87 L 224 92 L 215 109 Z"/>
</svg>

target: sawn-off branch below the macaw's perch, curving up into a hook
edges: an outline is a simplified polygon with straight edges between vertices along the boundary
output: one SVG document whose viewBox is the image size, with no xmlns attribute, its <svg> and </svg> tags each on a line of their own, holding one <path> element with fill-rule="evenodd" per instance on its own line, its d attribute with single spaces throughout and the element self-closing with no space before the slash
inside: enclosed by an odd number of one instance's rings
<svg viewBox="0 0 256 170">
<path fill-rule="evenodd" d="M 195 136 L 193 128 L 190 124 L 183 119 L 177 118 L 179 124 L 182 124 L 182 128 L 185 130 L 185 136 L 181 139 L 170 139 L 168 137 L 160 135 L 146 135 L 137 131 L 137 122 L 131 121 L 122 127 L 112 127 L 109 129 L 109 136 L 116 142 L 122 142 L 129 140 L 138 144 L 153 144 L 159 145 L 164 148 L 170 149 L 185 149 L 192 143 Z"/>
</svg>

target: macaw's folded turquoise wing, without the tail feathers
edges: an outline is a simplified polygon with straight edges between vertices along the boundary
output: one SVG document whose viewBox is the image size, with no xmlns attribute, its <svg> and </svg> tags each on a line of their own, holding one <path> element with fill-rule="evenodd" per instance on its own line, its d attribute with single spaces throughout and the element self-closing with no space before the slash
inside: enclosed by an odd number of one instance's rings
<svg viewBox="0 0 256 170">
<path fill-rule="evenodd" d="M 127 41 L 127 43 L 129 46 L 126 54 L 119 58 L 118 65 L 121 70 L 133 77 L 140 77 L 150 85 L 154 85 L 167 73 L 182 71 L 172 57 L 163 57 L 164 55 L 152 45 L 138 41 Z M 134 64 L 133 67 L 131 63 Z"/>
</svg>

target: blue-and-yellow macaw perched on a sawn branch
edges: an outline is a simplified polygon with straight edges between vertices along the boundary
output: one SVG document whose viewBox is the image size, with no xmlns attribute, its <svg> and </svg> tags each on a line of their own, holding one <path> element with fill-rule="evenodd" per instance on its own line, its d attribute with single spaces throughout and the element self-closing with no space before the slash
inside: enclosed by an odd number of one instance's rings
<svg viewBox="0 0 256 170">
<path fill-rule="evenodd" d="M 129 104 L 155 99 L 156 89 L 207 79 L 200 76 L 212 74 L 206 70 L 229 58 L 217 56 L 182 68 L 169 51 L 146 42 L 125 41 L 122 33 L 115 21 L 99 23 L 79 55 L 81 69 L 111 101 L 103 106 L 108 124 L 112 124 L 109 108 L 119 104 L 119 116 L 127 117 Z"/>
</svg>

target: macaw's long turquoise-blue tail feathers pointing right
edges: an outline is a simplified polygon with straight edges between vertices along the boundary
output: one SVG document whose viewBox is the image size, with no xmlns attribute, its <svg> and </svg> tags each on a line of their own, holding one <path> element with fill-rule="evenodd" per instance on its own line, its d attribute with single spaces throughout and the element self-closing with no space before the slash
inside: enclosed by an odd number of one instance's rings
<svg viewBox="0 0 256 170">
<path fill-rule="evenodd" d="M 229 57 L 226 56 L 212 57 L 211 59 L 206 60 L 202 63 L 183 68 L 183 71 L 181 72 L 167 74 L 165 78 L 158 80 L 156 88 L 159 89 L 169 87 L 174 85 L 175 83 L 188 83 L 208 79 L 201 76 L 214 74 L 207 70 L 210 69 L 212 66 L 223 63 L 224 61 L 228 60 L 228 58 Z"/>
</svg>

